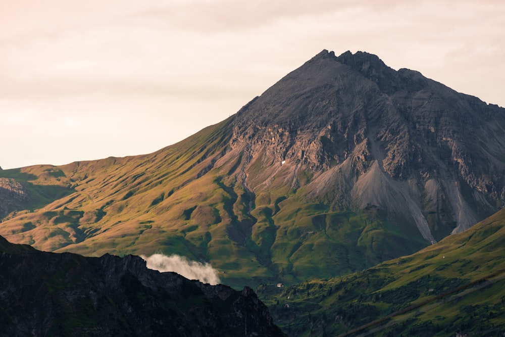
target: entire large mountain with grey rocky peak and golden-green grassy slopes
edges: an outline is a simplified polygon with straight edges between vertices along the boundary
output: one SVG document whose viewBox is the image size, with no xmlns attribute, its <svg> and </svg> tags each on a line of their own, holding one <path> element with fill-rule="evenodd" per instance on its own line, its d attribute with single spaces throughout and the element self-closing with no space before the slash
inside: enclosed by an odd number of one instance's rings
<svg viewBox="0 0 505 337">
<path fill-rule="evenodd" d="M 375 55 L 322 51 L 156 153 L 0 171 L 0 234 L 91 256 L 176 253 L 237 287 L 332 277 L 494 213 L 504 148 L 505 109 Z"/>
</svg>

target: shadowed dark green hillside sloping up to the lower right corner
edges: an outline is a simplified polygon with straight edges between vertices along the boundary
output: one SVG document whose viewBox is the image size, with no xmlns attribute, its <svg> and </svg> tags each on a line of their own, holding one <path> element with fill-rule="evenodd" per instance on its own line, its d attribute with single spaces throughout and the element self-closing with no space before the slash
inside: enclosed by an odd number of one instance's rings
<svg viewBox="0 0 505 337">
<path fill-rule="evenodd" d="M 296 336 L 501 335 L 505 210 L 420 252 L 343 277 L 257 292 Z"/>
</svg>

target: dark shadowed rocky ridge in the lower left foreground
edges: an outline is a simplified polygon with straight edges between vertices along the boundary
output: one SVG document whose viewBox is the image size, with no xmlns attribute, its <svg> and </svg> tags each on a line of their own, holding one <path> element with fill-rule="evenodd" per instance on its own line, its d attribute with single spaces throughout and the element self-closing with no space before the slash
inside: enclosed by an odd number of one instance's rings
<svg viewBox="0 0 505 337">
<path fill-rule="evenodd" d="M 137 256 L 37 251 L 0 236 L 1 335 L 282 336 L 248 287 L 203 284 Z"/>
</svg>

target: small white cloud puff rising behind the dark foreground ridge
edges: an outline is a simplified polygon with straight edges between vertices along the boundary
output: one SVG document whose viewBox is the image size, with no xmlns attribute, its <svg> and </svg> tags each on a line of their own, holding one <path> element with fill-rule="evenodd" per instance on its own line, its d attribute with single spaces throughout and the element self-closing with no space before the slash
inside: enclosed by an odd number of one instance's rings
<svg viewBox="0 0 505 337">
<path fill-rule="evenodd" d="M 140 256 L 147 262 L 147 268 L 164 271 L 173 271 L 189 279 L 197 279 L 203 283 L 216 285 L 220 283 L 218 271 L 209 263 L 190 261 L 184 256 L 154 254 L 149 257 Z"/>
</svg>

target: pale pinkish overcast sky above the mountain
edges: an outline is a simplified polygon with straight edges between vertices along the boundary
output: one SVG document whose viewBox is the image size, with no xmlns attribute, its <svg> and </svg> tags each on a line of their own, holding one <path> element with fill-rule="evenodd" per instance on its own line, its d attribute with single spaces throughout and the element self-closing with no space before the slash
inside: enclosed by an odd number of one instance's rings
<svg viewBox="0 0 505 337">
<path fill-rule="evenodd" d="M 323 49 L 505 106 L 501 0 L 0 0 L 0 166 L 151 153 Z"/>
</svg>

